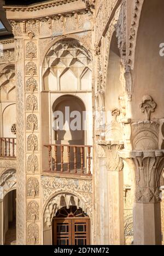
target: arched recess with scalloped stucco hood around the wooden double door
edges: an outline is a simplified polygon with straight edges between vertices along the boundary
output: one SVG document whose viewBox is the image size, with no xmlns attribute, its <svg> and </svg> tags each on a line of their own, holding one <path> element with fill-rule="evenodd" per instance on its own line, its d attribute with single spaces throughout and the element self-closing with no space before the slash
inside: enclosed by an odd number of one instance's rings
<svg viewBox="0 0 164 256">
<path fill-rule="evenodd" d="M 45 204 L 43 213 L 43 244 L 50 245 L 57 243 L 57 241 L 55 242 L 54 236 L 54 220 L 60 219 L 62 219 L 62 221 L 71 219 L 78 221 L 78 219 L 80 219 L 80 223 L 81 221 L 83 224 L 86 223 L 87 228 L 84 230 L 85 234 L 83 235 L 85 235 L 85 237 L 83 238 L 84 240 L 86 239 L 86 244 L 92 243 L 93 225 L 91 201 L 87 202 L 84 197 L 81 198 L 79 193 L 72 194 L 62 191 L 54 194 L 48 203 Z M 71 240 L 71 242 L 69 242 L 69 244 L 72 243 L 75 244 L 75 241 L 72 242 Z"/>
</svg>

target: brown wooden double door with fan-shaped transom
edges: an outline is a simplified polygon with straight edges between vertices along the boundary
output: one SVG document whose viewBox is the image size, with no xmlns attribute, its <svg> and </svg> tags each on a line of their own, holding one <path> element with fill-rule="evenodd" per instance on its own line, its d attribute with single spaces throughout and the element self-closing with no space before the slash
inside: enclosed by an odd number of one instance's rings
<svg viewBox="0 0 164 256">
<path fill-rule="evenodd" d="M 52 220 L 52 244 L 87 245 L 90 244 L 89 217 L 81 208 L 71 205 L 57 211 Z"/>
</svg>

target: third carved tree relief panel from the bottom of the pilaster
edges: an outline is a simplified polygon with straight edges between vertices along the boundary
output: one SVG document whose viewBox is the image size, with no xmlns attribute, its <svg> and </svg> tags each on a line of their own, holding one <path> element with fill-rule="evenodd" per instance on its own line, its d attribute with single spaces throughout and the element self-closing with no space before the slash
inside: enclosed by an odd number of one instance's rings
<svg viewBox="0 0 164 256">
<path fill-rule="evenodd" d="M 30 177 L 30 179 L 28 179 L 27 181 L 27 197 L 35 198 L 38 196 L 39 196 L 39 181 L 35 177 Z"/>
</svg>

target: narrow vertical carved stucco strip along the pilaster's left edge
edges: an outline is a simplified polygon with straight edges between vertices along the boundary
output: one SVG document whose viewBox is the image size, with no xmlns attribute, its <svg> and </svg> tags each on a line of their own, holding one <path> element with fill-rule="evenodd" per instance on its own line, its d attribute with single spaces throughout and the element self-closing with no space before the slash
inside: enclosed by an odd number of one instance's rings
<svg viewBox="0 0 164 256">
<path fill-rule="evenodd" d="M 25 176 L 25 120 L 22 113 L 25 112 L 23 73 L 17 73 L 17 214 L 16 214 L 16 239 L 17 244 L 26 244 L 26 176 Z"/>
</svg>

